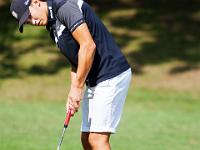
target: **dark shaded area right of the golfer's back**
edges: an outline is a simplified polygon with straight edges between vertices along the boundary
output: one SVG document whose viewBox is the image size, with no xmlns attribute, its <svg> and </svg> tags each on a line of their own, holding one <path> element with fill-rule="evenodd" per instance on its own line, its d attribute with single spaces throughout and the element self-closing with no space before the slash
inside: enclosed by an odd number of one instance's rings
<svg viewBox="0 0 200 150">
<path fill-rule="evenodd" d="M 101 4 L 101 3 L 100 3 Z M 185 64 L 184 71 L 180 66 L 169 72 L 182 73 L 199 69 L 200 65 L 200 2 L 195 0 L 178 1 L 134 1 L 130 5 L 121 5 L 113 1 L 113 5 L 99 6 L 97 9 L 101 18 L 116 10 L 134 10 L 133 15 L 109 18 L 110 24 L 116 29 L 126 29 L 129 32 L 116 34 L 112 32 L 118 44 L 124 48 L 135 37 L 131 32 L 150 33 L 153 41 L 143 42 L 139 48 L 132 48 L 126 56 L 136 73 L 142 73 L 146 65 L 157 65 L 171 61 Z M 111 7 L 112 6 L 112 7 Z M 97 6 L 98 7 L 98 6 Z"/>
</svg>

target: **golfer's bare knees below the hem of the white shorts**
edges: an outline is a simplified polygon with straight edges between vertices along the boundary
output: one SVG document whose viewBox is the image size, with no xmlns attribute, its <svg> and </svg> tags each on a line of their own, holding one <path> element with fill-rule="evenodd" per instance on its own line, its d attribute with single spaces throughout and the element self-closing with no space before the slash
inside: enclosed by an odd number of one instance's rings
<svg viewBox="0 0 200 150">
<path fill-rule="evenodd" d="M 110 133 L 82 132 L 81 141 L 84 150 L 111 150 Z"/>
</svg>

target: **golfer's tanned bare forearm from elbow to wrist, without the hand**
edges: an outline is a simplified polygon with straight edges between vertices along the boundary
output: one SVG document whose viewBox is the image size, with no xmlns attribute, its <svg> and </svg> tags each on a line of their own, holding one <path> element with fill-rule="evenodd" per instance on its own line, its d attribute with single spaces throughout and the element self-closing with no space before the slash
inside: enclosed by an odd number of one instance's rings
<svg viewBox="0 0 200 150">
<path fill-rule="evenodd" d="M 73 82 L 76 87 L 82 88 L 84 86 L 86 77 L 94 60 L 95 49 L 96 46 L 93 42 L 80 46 L 78 53 L 78 68 L 76 78 Z"/>
</svg>

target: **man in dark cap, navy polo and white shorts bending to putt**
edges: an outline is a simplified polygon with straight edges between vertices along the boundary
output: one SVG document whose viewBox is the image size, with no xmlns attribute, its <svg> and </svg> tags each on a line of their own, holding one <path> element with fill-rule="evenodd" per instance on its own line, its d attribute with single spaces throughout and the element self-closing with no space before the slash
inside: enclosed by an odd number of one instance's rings
<svg viewBox="0 0 200 150">
<path fill-rule="evenodd" d="M 82 101 L 84 150 L 110 150 L 131 81 L 131 69 L 111 34 L 82 0 L 13 0 L 11 14 L 24 24 L 46 26 L 71 65 L 66 109 Z M 83 94 L 84 85 L 86 88 Z"/>
</svg>

